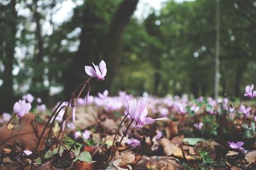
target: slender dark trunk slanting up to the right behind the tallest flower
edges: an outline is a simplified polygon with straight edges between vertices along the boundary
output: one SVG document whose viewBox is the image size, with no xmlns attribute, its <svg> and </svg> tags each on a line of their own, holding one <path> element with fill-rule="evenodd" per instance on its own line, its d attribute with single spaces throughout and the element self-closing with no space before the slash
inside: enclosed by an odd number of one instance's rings
<svg viewBox="0 0 256 170">
<path fill-rule="evenodd" d="M 104 60 L 106 61 L 108 73 L 104 85 L 99 90 L 111 90 L 111 85 L 115 79 L 122 55 L 122 38 L 125 27 L 128 24 L 132 13 L 136 9 L 139 0 L 124 0 L 118 6 L 118 10 L 113 17 L 111 27 L 109 29 L 108 38 L 106 39 L 104 48 Z"/>
</svg>

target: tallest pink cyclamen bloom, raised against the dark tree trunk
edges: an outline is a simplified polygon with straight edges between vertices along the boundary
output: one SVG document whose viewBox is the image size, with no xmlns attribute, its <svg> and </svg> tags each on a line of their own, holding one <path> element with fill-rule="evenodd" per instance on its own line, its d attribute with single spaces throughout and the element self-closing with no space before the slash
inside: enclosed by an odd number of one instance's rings
<svg viewBox="0 0 256 170">
<path fill-rule="evenodd" d="M 94 69 L 91 66 L 84 66 L 86 74 L 88 74 L 89 76 L 95 77 L 98 80 L 104 80 L 104 77 L 107 74 L 107 67 L 106 67 L 106 63 L 104 62 L 104 60 L 100 61 L 99 66 L 97 66 L 97 65 L 95 66 L 94 63 L 92 63 L 92 64 L 94 66 Z"/>
</svg>

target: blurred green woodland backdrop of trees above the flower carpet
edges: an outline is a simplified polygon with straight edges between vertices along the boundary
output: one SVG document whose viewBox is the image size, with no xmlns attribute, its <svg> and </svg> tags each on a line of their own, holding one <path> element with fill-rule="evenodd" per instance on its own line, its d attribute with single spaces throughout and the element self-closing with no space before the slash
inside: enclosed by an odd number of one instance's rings
<svg viewBox="0 0 256 170">
<path fill-rule="evenodd" d="M 92 94 L 241 97 L 256 83 L 256 1 L 0 1 L 1 112 L 26 93 L 55 104 L 102 59 Z"/>
</svg>

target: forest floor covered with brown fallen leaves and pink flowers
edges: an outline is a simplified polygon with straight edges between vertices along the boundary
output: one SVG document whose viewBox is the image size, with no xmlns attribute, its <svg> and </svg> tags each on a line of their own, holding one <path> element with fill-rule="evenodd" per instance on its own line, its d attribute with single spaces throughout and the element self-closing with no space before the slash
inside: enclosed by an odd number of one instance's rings
<svg viewBox="0 0 256 170">
<path fill-rule="evenodd" d="M 148 97 L 147 116 L 163 120 L 138 126 L 125 117 L 134 98 L 81 99 L 75 124 L 64 124 L 60 111 L 45 126 L 49 111 L 36 108 L 2 121 L 0 169 L 256 169 L 253 107 L 232 99 Z"/>
</svg>

